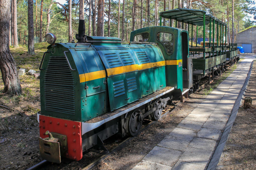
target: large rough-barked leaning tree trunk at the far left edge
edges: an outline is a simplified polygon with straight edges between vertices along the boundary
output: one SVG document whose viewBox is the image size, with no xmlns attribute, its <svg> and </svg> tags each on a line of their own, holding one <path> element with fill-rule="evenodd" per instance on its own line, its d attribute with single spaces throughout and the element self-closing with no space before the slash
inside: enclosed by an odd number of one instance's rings
<svg viewBox="0 0 256 170">
<path fill-rule="evenodd" d="M 21 86 L 16 63 L 9 49 L 10 0 L 0 1 L 0 70 L 4 93 L 20 95 Z"/>
</svg>

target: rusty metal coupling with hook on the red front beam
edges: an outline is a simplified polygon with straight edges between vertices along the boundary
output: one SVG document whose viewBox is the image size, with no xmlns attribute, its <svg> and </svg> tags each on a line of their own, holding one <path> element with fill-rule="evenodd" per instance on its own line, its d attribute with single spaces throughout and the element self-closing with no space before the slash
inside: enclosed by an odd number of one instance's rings
<svg viewBox="0 0 256 170">
<path fill-rule="evenodd" d="M 50 162 L 60 163 L 61 156 L 68 151 L 67 136 L 54 132 L 51 133 L 48 130 L 45 132 L 45 135 L 49 135 L 49 137 L 39 137 L 41 157 Z"/>
</svg>

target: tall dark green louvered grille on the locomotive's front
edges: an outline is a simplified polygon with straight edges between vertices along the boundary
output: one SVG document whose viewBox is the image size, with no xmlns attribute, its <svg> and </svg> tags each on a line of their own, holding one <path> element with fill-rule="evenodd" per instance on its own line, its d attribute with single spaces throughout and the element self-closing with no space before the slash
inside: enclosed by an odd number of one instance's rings
<svg viewBox="0 0 256 170">
<path fill-rule="evenodd" d="M 75 81 L 64 56 L 51 56 L 44 78 L 45 110 L 75 114 Z"/>
</svg>

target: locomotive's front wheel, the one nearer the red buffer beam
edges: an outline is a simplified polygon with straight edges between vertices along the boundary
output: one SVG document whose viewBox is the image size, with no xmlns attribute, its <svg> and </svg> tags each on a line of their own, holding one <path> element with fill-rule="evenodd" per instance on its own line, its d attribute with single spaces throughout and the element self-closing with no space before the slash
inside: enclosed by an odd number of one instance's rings
<svg viewBox="0 0 256 170">
<path fill-rule="evenodd" d="M 139 133 L 143 119 L 144 116 L 139 111 L 135 111 L 130 115 L 128 122 L 126 123 L 128 135 L 136 136 Z"/>
</svg>

